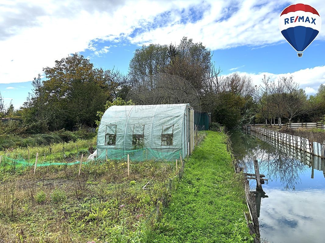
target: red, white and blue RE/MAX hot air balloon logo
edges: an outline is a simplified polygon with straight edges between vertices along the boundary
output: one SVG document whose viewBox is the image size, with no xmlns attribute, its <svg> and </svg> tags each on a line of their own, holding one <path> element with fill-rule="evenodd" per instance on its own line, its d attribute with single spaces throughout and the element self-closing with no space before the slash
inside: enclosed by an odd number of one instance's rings
<svg viewBox="0 0 325 243">
<path fill-rule="evenodd" d="M 286 7 L 279 18 L 279 28 L 298 57 L 314 41 L 321 27 L 321 19 L 315 8 L 305 4 Z"/>
</svg>

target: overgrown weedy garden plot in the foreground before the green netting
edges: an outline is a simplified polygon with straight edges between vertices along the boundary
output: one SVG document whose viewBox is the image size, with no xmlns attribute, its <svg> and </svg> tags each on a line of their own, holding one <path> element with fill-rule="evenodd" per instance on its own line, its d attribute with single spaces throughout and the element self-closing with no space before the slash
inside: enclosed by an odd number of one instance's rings
<svg viewBox="0 0 325 243">
<path fill-rule="evenodd" d="M 125 161 L 78 170 L 79 164 L 38 167 L 35 175 L 32 168 L 0 169 L 0 241 L 147 242 L 156 205 L 168 203 L 179 173 L 163 161 L 132 161 L 129 177 Z"/>
</svg>

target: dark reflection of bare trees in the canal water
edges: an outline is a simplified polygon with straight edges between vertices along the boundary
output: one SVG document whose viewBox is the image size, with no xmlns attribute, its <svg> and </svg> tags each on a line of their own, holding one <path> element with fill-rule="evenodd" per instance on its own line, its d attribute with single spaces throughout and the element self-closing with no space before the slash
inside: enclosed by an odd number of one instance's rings
<svg viewBox="0 0 325 243">
<path fill-rule="evenodd" d="M 246 137 L 246 138 L 244 138 Z M 241 140 L 241 141 L 240 141 Z M 241 144 L 240 150 L 243 156 L 238 157 L 247 170 L 253 171 L 253 156 L 259 161 L 260 171 L 265 171 L 268 179 L 278 180 L 285 189 L 295 190 L 295 185 L 301 182 L 300 174 L 306 169 L 305 165 L 298 159 L 279 151 L 265 142 L 255 143 L 248 136 L 236 135 L 234 145 Z M 247 141 L 250 141 L 247 143 Z M 245 149 L 244 145 L 249 145 Z"/>
</svg>

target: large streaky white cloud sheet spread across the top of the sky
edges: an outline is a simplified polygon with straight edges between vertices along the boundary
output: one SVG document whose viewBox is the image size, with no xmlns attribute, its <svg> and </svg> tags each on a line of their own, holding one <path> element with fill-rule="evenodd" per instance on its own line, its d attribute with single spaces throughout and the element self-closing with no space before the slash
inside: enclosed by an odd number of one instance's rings
<svg viewBox="0 0 325 243">
<path fill-rule="evenodd" d="M 305 3 L 325 16 L 321 1 Z M 0 83 L 31 81 L 43 67 L 69 53 L 107 53 L 108 47 L 97 50 L 95 43 L 102 41 L 169 44 L 188 36 L 212 50 L 274 44 L 284 40 L 278 28 L 282 4 L 280 0 L 32 0 L 28 4 L 5 0 L 0 6 Z M 199 20 L 188 19 L 193 9 Z M 318 38 L 324 38 L 324 31 Z"/>
</svg>

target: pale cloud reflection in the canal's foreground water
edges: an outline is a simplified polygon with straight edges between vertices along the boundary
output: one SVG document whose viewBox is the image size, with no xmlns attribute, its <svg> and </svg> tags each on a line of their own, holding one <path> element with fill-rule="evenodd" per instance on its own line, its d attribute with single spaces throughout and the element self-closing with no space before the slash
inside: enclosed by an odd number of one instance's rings
<svg viewBox="0 0 325 243">
<path fill-rule="evenodd" d="M 323 242 L 324 190 L 281 191 L 268 189 L 262 199 L 260 232 L 268 242 Z"/>
</svg>

